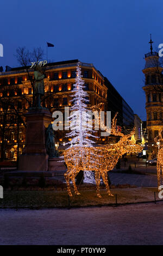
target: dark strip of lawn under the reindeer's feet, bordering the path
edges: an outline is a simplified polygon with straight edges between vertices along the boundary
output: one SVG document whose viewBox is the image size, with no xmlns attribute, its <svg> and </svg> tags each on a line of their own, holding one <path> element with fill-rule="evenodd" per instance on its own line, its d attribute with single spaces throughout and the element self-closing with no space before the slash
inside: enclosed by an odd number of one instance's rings
<svg viewBox="0 0 163 256">
<path fill-rule="evenodd" d="M 115 204 L 115 194 L 117 203 L 137 203 L 156 200 L 158 191 L 156 188 L 113 188 L 113 197 L 108 196 L 106 191 L 101 190 L 102 198 L 98 198 L 95 190 L 79 190 L 79 196 L 70 197 L 70 205 L 73 206 L 98 206 Z M 66 208 L 68 207 L 67 191 L 4 191 L 4 198 L 0 199 L 0 208 L 16 208 L 16 198 L 18 208 Z"/>
</svg>

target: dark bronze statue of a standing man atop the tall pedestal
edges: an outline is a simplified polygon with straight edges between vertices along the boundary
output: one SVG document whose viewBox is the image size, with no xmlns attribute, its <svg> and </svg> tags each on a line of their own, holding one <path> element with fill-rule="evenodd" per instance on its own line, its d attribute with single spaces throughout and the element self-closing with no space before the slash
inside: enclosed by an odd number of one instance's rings
<svg viewBox="0 0 163 256">
<path fill-rule="evenodd" d="M 40 65 L 35 66 L 34 71 L 34 78 L 35 78 L 35 84 L 34 84 L 34 95 L 35 95 L 35 107 L 41 108 L 41 96 L 44 95 L 44 83 L 43 78 L 45 75 L 43 75 L 42 69 Z"/>
</svg>

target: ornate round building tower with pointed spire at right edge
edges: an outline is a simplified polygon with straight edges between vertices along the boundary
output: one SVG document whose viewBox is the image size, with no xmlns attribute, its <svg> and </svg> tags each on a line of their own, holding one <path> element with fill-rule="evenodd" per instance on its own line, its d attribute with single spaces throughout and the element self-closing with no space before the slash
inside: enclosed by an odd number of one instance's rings
<svg viewBox="0 0 163 256">
<path fill-rule="evenodd" d="M 163 130 L 163 68 L 158 52 L 153 52 L 152 39 L 149 44 L 151 52 L 145 54 L 146 64 L 142 72 L 145 74 L 148 151 L 152 153 L 156 149 L 154 138 Z"/>
</svg>

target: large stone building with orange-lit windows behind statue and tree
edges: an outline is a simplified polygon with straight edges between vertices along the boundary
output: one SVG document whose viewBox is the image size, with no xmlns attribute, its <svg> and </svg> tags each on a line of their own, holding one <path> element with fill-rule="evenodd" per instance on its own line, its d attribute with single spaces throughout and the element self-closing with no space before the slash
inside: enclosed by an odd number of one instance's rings
<svg viewBox="0 0 163 256">
<path fill-rule="evenodd" d="M 51 113 L 54 111 L 62 111 L 64 107 L 72 105 L 71 94 L 73 84 L 75 83 L 76 67 L 79 60 L 68 60 L 65 62 L 49 63 L 43 68 L 45 69 L 45 96 L 43 105 L 47 107 Z M 90 108 L 98 103 L 103 103 L 102 110 L 107 109 L 107 90 L 104 84 L 104 77 L 93 64 L 80 62 L 83 79 L 85 81 L 85 90 L 88 93 L 87 107 Z M 33 77 L 34 70 L 29 69 L 29 75 Z M 23 68 L 9 68 L 5 72 L 0 73 L 0 147 L 2 145 L 2 130 L 5 128 L 4 143 L 5 157 L 9 160 L 17 157 L 17 141 L 19 144 L 20 154 L 25 143 L 25 127 L 26 119 L 23 114 L 28 112 L 30 103 L 32 102 L 33 88 L 28 79 L 27 71 Z M 23 121 L 15 115 L 13 106 L 8 106 L 5 123 L 3 120 L 4 106 L 3 100 L 9 100 L 13 103 L 14 108 L 21 115 Z M 17 135 L 18 133 L 18 135 Z M 55 133 L 55 140 L 59 143 L 66 142 L 67 131 L 58 131 Z M 97 142 L 104 142 L 106 138 L 97 138 Z"/>
</svg>

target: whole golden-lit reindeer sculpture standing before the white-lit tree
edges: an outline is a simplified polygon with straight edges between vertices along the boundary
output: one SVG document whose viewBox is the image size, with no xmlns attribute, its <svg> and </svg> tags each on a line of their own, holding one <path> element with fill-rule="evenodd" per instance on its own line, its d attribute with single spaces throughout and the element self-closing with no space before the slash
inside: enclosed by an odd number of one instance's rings
<svg viewBox="0 0 163 256">
<path fill-rule="evenodd" d="M 83 171 L 94 171 L 96 180 L 97 196 L 101 197 L 99 193 L 100 178 L 104 181 L 106 191 L 109 196 L 112 196 L 107 173 L 112 170 L 120 156 L 125 153 L 137 153 L 142 150 L 140 145 L 134 144 L 129 138 L 135 133 L 135 129 L 129 134 L 124 135 L 121 132 L 116 131 L 116 116 L 112 119 L 111 134 L 120 136 L 121 139 L 113 145 L 105 145 L 103 147 L 72 147 L 64 152 L 64 160 L 67 165 L 67 172 L 65 173 L 65 179 L 67 184 L 67 191 L 69 196 L 72 196 L 70 188 L 70 179 L 73 182 L 73 188 L 75 194 L 80 194 L 77 190 L 75 178 L 76 175 Z"/>
</svg>

